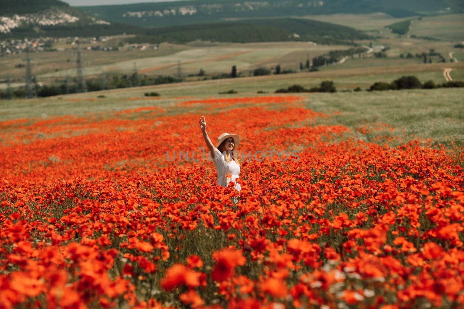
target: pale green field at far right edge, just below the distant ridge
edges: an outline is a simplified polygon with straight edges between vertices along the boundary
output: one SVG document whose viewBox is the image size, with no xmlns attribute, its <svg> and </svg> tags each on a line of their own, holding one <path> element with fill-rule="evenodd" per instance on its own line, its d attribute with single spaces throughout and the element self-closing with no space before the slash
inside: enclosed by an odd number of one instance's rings
<svg viewBox="0 0 464 309">
<path fill-rule="evenodd" d="M 464 14 L 423 17 L 412 20 L 409 35 L 437 38 L 444 41 L 464 40 Z"/>
</svg>

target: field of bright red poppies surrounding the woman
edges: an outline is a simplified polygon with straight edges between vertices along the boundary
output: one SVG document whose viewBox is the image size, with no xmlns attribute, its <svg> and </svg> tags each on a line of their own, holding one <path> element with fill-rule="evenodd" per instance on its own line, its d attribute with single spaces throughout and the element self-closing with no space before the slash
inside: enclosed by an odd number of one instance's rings
<svg viewBox="0 0 464 309">
<path fill-rule="evenodd" d="M 464 306 L 462 148 L 304 100 L 0 122 L 0 308 Z M 240 192 L 196 156 L 202 114 L 251 153 Z"/>
</svg>

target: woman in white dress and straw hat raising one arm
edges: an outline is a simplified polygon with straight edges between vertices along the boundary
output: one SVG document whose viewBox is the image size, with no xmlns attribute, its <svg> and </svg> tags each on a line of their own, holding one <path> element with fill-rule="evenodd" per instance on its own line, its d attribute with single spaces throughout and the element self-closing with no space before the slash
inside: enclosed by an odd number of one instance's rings
<svg viewBox="0 0 464 309">
<path fill-rule="evenodd" d="M 237 151 L 234 151 L 240 139 L 237 134 L 222 133 L 219 135 L 218 145 L 214 147 L 208 133 L 206 133 L 205 116 L 201 116 L 198 123 L 200 124 L 201 132 L 203 132 L 203 138 L 205 139 L 211 158 L 213 158 L 216 172 L 218 173 L 218 184 L 227 187 L 231 181 L 238 178 L 238 174 L 240 173 Z M 238 191 L 241 189 L 239 183 L 235 183 L 234 187 Z"/>
</svg>

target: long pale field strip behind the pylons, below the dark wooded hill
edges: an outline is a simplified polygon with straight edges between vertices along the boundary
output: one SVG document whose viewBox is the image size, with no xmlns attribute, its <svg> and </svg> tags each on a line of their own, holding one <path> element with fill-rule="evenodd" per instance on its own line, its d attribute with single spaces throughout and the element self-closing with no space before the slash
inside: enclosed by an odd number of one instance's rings
<svg viewBox="0 0 464 309">
<path fill-rule="evenodd" d="M 158 50 L 85 51 L 83 73 L 84 76 L 98 76 L 102 72 L 131 74 L 136 63 L 141 74 L 175 75 L 179 61 L 182 72 L 186 75 L 196 74 L 200 69 L 204 69 L 207 74 L 229 73 L 232 65 L 236 65 L 239 71 L 277 63 L 284 68 L 297 69 L 299 63 L 305 62 L 308 55 L 316 57 L 330 50 L 343 49 L 348 49 L 348 46 L 277 42 L 196 47 L 163 43 Z M 73 55 L 75 52 L 69 50 L 34 53 L 33 74 L 36 74 L 40 81 L 76 75 L 76 56 Z M 6 73 L 10 73 L 12 78 L 23 78 L 24 69 L 14 68 L 16 63 L 23 63 L 22 58 L 24 55 L 0 58 L 0 65 L 5 66 L 0 78 L 6 78 Z M 70 59 L 70 62 L 67 59 Z"/>
</svg>

